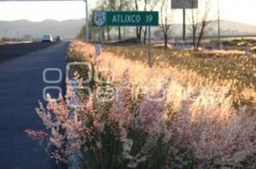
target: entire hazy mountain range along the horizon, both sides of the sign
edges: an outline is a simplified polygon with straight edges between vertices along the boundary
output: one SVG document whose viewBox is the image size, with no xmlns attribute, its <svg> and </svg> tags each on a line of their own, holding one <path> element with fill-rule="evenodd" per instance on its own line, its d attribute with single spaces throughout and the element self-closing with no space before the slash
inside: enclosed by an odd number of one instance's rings
<svg viewBox="0 0 256 169">
<path fill-rule="evenodd" d="M 84 25 L 84 19 L 81 20 L 44 20 L 41 22 L 32 22 L 29 20 L 0 21 L 0 39 L 1 37 L 24 37 L 32 36 L 33 38 L 41 37 L 44 33 L 52 34 L 54 37 L 61 35 L 63 38 L 71 39 L 76 37 L 81 27 Z M 256 25 L 247 25 L 240 22 L 230 20 L 221 20 L 222 35 L 256 35 Z M 187 34 L 189 35 L 190 25 L 187 25 Z M 212 31 L 208 35 L 217 35 L 218 22 L 212 21 L 209 25 Z M 125 27 L 125 35 L 132 37 L 135 34 L 134 27 Z M 157 31 L 158 27 L 152 27 L 152 35 Z M 172 25 L 172 36 L 181 36 L 183 25 Z M 117 37 L 117 29 L 113 28 L 110 32 L 112 37 Z"/>
</svg>

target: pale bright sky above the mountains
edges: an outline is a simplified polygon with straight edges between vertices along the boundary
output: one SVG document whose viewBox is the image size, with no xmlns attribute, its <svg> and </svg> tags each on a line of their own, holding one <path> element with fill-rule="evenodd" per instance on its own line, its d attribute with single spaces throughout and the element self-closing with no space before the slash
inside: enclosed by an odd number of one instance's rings
<svg viewBox="0 0 256 169">
<path fill-rule="evenodd" d="M 96 0 L 88 0 L 90 9 Z M 201 0 L 204 1 L 204 0 Z M 171 0 L 170 0 L 171 2 Z M 217 0 L 212 0 L 212 13 L 217 14 Z M 219 0 L 221 20 L 256 25 L 255 0 Z M 170 3 L 171 4 L 171 3 Z M 84 18 L 84 2 L 1 2 L 0 20 L 78 20 Z M 174 22 L 182 22 L 182 12 L 176 10 Z"/>
</svg>

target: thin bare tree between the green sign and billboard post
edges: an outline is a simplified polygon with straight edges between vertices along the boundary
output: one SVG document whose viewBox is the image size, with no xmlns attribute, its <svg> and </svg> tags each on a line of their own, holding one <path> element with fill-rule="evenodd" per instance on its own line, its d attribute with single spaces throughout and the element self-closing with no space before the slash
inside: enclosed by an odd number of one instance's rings
<svg viewBox="0 0 256 169">
<path fill-rule="evenodd" d="M 162 31 L 165 40 L 165 49 L 168 43 L 168 33 L 171 28 L 172 12 L 169 0 L 161 0 L 160 4 L 160 31 Z"/>
</svg>

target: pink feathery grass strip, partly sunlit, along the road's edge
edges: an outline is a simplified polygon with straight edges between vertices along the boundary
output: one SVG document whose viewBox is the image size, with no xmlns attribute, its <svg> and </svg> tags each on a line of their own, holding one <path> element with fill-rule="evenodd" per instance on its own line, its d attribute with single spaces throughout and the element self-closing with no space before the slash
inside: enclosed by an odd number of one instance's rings
<svg viewBox="0 0 256 169">
<path fill-rule="evenodd" d="M 212 80 L 181 64 L 174 66 L 174 56 L 164 59 L 159 54 L 163 59 L 155 58 L 150 69 L 140 55 L 142 48 L 119 48 L 115 54 L 114 47 L 105 48 L 96 59 L 91 44 L 71 44 L 69 61 L 93 67 L 92 94 L 81 89 L 77 95 L 67 82 L 67 101 L 49 97 L 47 109 L 41 105 L 37 110 L 50 132 L 27 131 L 57 148 L 52 154 L 57 161 L 70 162 L 70 156 L 79 155 L 81 168 L 109 169 L 255 166 L 254 88 L 238 93 L 231 78 Z M 172 52 L 181 60 L 179 52 Z M 189 52 L 183 54 L 192 58 Z M 193 57 L 198 63 L 207 59 Z M 78 70 L 75 79 L 84 87 L 81 77 L 88 77 L 88 69 Z M 252 99 L 251 104 L 235 105 L 235 93 Z M 76 97 L 79 101 L 71 109 Z"/>
</svg>

